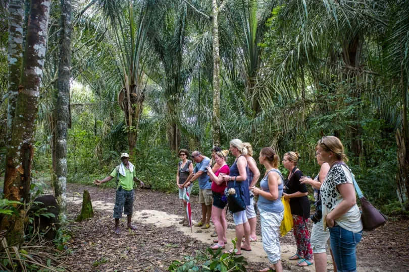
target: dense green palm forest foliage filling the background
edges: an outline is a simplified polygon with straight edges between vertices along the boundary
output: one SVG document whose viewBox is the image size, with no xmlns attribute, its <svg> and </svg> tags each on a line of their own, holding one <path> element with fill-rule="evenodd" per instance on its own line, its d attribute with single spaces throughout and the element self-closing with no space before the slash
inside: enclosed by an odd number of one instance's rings
<svg viewBox="0 0 409 272">
<path fill-rule="evenodd" d="M 52 4 L 34 154 L 34 170 L 44 173 L 53 172 L 58 89 L 60 11 Z M 336 135 L 370 200 L 384 211 L 407 209 L 408 2 L 216 5 L 223 6 L 217 16 L 220 117 L 214 114 L 211 0 L 72 1 L 68 181 L 106 176 L 119 154 L 130 152 L 139 178 L 176 191 L 177 150 L 209 156 L 216 116 L 223 148 L 239 138 L 253 145 L 255 157 L 265 146 L 281 156 L 296 150 L 310 176 L 318 172 L 317 141 Z M 7 20 L 0 18 L 1 33 Z M 7 35 L 0 35 L 0 48 L 3 102 Z M 0 105 L 0 133 L 7 104 Z M 5 146 L 2 141 L 0 156 Z"/>
</svg>

